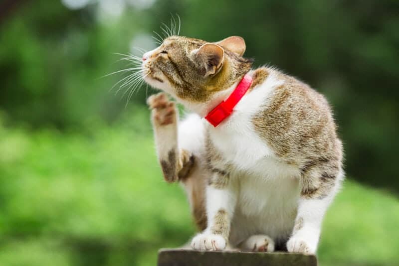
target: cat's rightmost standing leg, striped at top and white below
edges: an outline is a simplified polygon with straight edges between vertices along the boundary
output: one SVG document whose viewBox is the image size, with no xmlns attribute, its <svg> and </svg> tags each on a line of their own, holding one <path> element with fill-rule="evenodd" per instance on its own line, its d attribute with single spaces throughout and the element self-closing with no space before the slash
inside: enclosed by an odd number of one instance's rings
<svg viewBox="0 0 399 266">
<path fill-rule="evenodd" d="M 315 254 L 324 214 L 338 191 L 343 171 L 337 165 L 303 168 L 302 192 L 288 252 Z"/>
</svg>

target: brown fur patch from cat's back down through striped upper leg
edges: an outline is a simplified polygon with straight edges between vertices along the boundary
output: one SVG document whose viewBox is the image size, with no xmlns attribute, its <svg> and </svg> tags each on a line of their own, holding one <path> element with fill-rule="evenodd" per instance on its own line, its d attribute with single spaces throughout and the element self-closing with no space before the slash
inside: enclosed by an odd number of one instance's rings
<svg viewBox="0 0 399 266">
<path fill-rule="evenodd" d="M 299 167 L 304 198 L 326 197 L 337 181 L 342 144 L 325 98 L 277 70 L 283 80 L 252 119 L 256 132 L 286 163 Z"/>
</svg>

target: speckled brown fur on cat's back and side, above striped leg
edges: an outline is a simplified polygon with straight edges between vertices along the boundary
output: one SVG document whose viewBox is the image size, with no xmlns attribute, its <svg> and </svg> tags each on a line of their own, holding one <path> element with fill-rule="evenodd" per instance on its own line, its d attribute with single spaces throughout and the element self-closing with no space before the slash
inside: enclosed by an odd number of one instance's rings
<svg viewBox="0 0 399 266">
<path fill-rule="evenodd" d="M 341 141 L 326 98 L 294 77 L 266 70 L 281 85 L 273 88 L 252 117 L 255 132 L 288 163 L 300 165 L 318 154 L 341 157 Z"/>
</svg>

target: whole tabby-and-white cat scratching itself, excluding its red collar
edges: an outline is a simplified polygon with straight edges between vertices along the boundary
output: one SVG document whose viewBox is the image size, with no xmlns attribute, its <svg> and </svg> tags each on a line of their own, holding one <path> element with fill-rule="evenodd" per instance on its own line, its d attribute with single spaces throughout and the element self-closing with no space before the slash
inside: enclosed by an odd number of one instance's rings
<svg viewBox="0 0 399 266">
<path fill-rule="evenodd" d="M 187 192 L 194 250 L 315 254 L 323 216 L 344 179 L 343 146 L 326 99 L 276 68 L 251 69 L 245 41 L 169 36 L 142 58 L 157 155 Z M 219 125 L 203 119 L 244 78 Z M 166 93 L 166 94 L 165 94 Z M 193 111 L 179 121 L 172 96 Z"/>
</svg>

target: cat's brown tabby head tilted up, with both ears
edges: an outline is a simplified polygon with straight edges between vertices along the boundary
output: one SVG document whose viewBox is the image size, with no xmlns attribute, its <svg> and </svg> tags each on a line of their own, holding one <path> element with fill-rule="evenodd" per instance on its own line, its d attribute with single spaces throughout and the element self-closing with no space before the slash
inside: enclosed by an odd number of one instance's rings
<svg viewBox="0 0 399 266">
<path fill-rule="evenodd" d="M 219 42 L 170 36 L 143 55 L 143 75 L 151 86 L 177 98 L 206 102 L 250 70 L 244 52 L 245 42 L 238 36 Z"/>
</svg>

